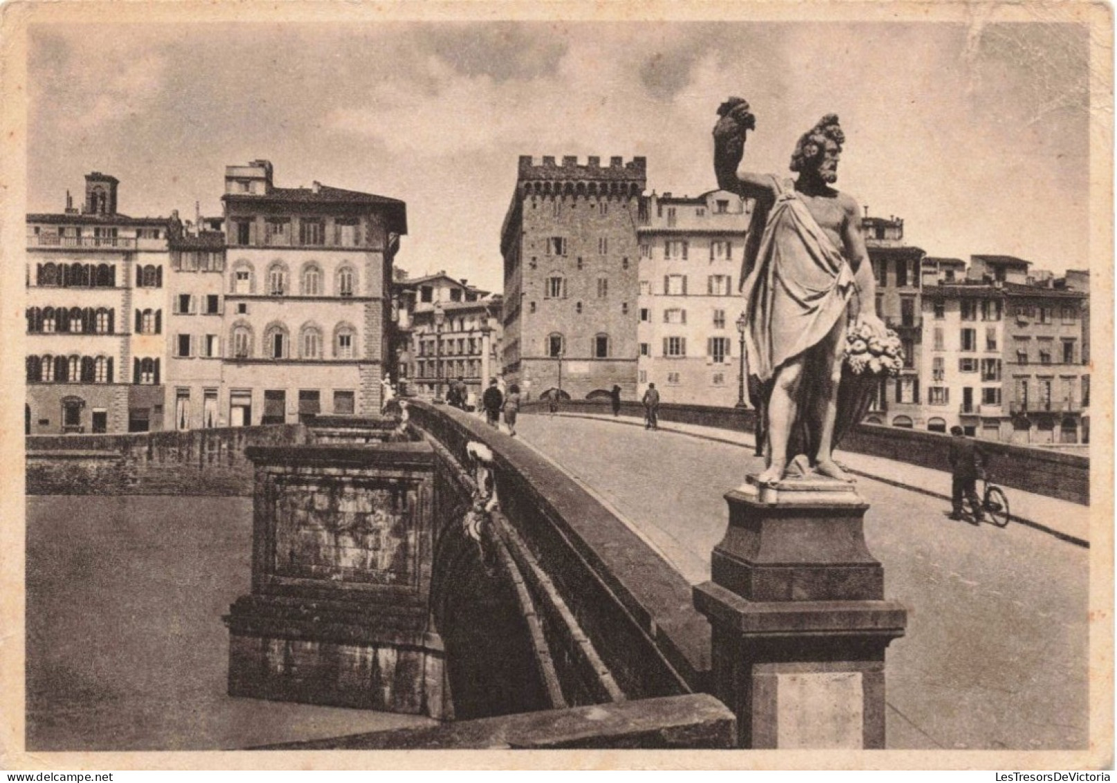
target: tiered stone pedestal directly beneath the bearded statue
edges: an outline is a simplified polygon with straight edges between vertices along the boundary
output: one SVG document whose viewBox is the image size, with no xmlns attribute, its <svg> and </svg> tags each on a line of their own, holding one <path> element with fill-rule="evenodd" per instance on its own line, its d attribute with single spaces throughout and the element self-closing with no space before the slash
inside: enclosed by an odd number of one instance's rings
<svg viewBox="0 0 1117 783">
<path fill-rule="evenodd" d="M 713 580 L 694 590 L 713 627 L 714 695 L 742 747 L 885 746 L 885 648 L 907 612 L 884 600 L 850 484 L 800 479 L 726 494 Z"/>
</svg>

